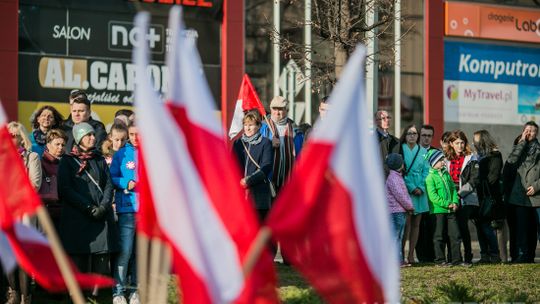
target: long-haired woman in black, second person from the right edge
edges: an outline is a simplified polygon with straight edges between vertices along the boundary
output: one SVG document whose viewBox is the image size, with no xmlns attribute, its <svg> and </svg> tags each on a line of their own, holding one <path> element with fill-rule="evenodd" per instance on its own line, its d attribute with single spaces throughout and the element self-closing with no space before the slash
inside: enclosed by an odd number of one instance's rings
<svg viewBox="0 0 540 304">
<path fill-rule="evenodd" d="M 486 130 L 474 133 L 474 147 L 478 153 L 478 185 L 477 194 L 480 202 L 485 197 L 491 197 L 496 202 L 496 208 L 502 208 L 502 193 L 499 185 L 503 167 L 502 154 L 499 152 L 493 137 Z M 497 210 L 493 210 L 495 212 Z M 490 215 L 478 215 L 475 220 L 478 243 L 480 244 L 479 263 L 500 263 L 497 234 L 491 226 L 493 212 Z"/>
</svg>

